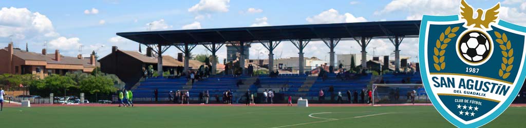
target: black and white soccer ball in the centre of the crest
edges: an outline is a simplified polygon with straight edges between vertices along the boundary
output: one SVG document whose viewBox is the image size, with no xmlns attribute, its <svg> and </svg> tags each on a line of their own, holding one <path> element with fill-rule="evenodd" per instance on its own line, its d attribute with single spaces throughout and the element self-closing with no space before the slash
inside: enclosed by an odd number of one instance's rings
<svg viewBox="0 0 526 128">
<path fill-rule="evenodd" d="M 480 31 L 469 31 L 464 34 L 457 47 L 461 57 L 473 63 L 487 58 L 491 49 L 488 37 Z"/>
</svg>

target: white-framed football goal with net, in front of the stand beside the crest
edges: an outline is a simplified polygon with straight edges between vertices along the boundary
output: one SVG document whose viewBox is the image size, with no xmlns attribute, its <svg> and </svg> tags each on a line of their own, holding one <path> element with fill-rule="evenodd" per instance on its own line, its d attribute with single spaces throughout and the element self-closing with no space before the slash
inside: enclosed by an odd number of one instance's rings
<svg viewBox="0 0 526 128">
<path fill-rule="evenodd" d="M 411 93 L 415 91 L 415 102 L 428 103 L 429 97 L 424 90 L 423 84 L 396 83 L 396 84 L 372 84 L 372 100 L 374 106 L 377 103 L 411 103 Z M 423 100 L 423 101 L 422 101 Z"/>
</svg>

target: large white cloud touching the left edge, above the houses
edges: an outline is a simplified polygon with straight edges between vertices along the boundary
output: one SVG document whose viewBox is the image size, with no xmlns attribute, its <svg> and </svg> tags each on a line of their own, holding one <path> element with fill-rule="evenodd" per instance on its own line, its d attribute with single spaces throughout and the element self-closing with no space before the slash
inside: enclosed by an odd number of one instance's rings
<svg viewBox="0 0 526 128">
<path fill-rule="evenodd" d="M 0 37 L 12 37 L 13 40 L 56 37 L 49 18 L 27 8 L 3 7 L 0 10 Z"/>
</svg>

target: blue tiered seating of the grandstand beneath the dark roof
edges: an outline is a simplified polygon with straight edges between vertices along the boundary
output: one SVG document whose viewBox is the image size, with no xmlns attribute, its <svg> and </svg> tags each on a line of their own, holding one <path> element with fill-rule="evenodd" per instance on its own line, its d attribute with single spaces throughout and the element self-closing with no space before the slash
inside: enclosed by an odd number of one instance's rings
<svg viewBox="0 0 526 128">
<path fill-rule="evenodd" d="M 256 83 L 256 79 L 259 79 L 259 84 Z M 238 81 L 242 82 L 239 86 L 236 84 Z M 167 101 L 169 91 L 185 90 L 190 93 L 190 101 L 197 102 L 198 94 L 203 91 L 209 91 L 210 97 L 218 95 L 221 99 L 222 92 L 231 90 L 234 92 L 234 97 L 238 98 L 235 101 L 238 101 L 246 90 L 261 96 L 264 90 L 272 89 L 278 94 L 275 101 L 284 103 L 285 96 L 288 95 L 292 95 L 294 99 L 302 97 L 316 101 L 319 90 L 322 89 L 330 95 L 328 92 L 330 87 L 333 88 L 334 94 L 339 91 L 345 94 L 348 90 L 360 92 L 362 89 L 371 87 L 373 83 L 402 83 L 402 81 L 403 83 L 421 83 L 420 74 L 418 72 L 385 73 L 380 76 L 373 76 L 371 73 L 352 74 L 350 79 L 345 80 L 336 78 L 336 74 L 329 74 L 326 80 L 306 74 L 280 74 L 278 77 L 216 75 L 195 81 L 193 85 L 186 78 L 148 78 L 141 81 L 133 90 L 135 101 L 154 101 L 154 90 L 158 90 L 159 101 Z M 329 98 L 330 96 L 326 96 L 326 99 Z M 214 98 L 211 99 L 215 101 Z M 256 102 L 259 102 L 259 99 L 256 98 Z"/>
</svg>

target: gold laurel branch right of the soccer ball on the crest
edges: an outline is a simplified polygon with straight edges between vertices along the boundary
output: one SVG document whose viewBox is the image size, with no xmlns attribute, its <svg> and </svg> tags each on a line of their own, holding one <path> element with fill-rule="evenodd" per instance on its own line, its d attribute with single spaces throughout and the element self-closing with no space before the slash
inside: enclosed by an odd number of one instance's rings
<svg viewBox="0 0 526 128">
<path fill-rule="evenodd" d="M 502 79 L 506 79 L 510 76 L 510 71 L 513 68 L 513 48 L 511 48 L 511 41 L 508 40 L 508 37 L 505 33 L 502 33 L 502 35 L 495 31 L 495 36 L 497 41 L 500 45 L 500 49 L 502 49 L 502 64 L 501 68 L 499 69 L 499 76 L 502 77 Z"/>
</svg>

